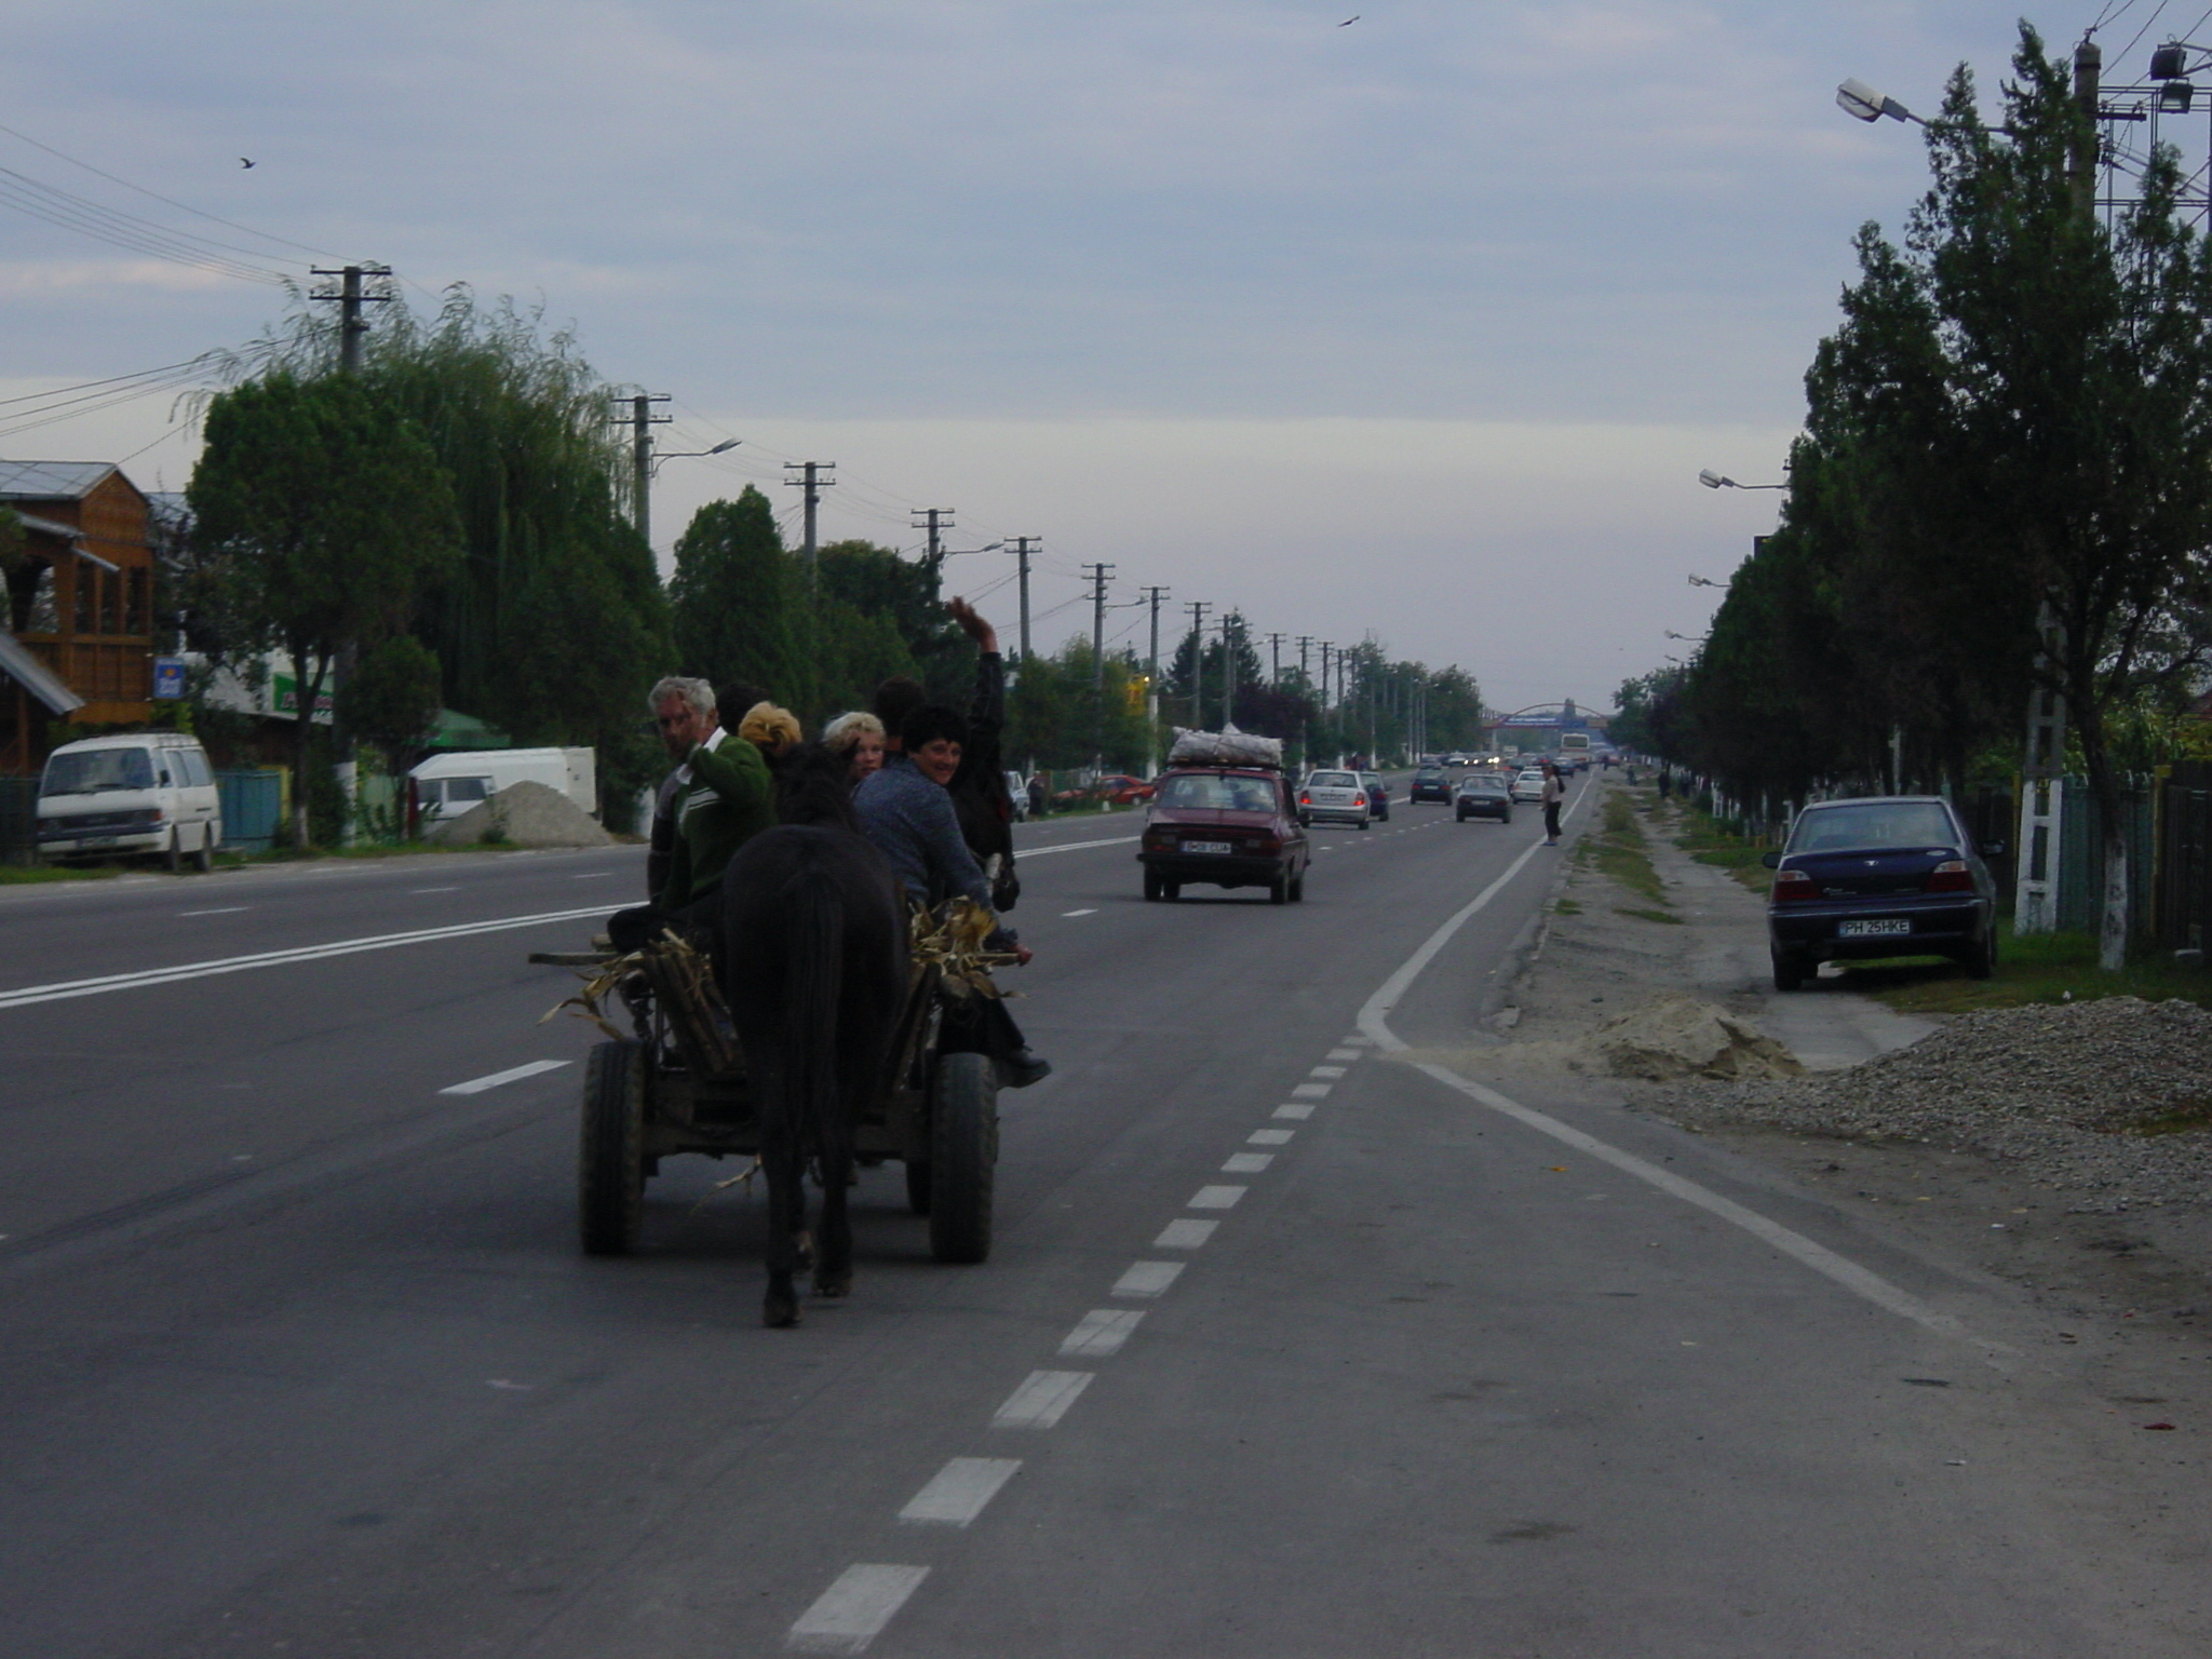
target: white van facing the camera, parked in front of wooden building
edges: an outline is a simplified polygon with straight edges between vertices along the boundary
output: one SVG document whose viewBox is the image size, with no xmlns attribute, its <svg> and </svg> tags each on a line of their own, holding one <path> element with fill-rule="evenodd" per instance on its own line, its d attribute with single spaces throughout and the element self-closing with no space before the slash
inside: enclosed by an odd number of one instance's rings
<svg viewBox="0 0 2212 1659">
<path fill-rule="evenodd" d="M 131 732 L 86 737 L 46 757 L 38 781 L 42 858 L 150 852 L 170 869 L 186 856 L 215 867 L 223 807 L 197 737 Z"/>
</svg>

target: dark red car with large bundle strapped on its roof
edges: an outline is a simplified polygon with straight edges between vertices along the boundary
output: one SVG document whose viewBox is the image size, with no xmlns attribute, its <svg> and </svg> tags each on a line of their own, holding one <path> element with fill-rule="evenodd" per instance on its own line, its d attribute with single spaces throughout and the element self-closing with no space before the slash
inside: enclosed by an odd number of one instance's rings
<svg viewBox="0 0 2212 1659">
<path fill-rule="evenodd" d="M 1305 898 L 1312 852 L 1281 772 L 1177 768 L 1157 785 L 1137 852 L 1146 898 L 1181 898 L 1186 883 L 1265 887 L 1276 905 Z"/>
</svg>

